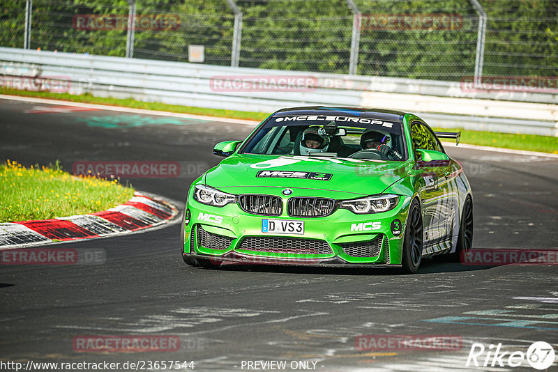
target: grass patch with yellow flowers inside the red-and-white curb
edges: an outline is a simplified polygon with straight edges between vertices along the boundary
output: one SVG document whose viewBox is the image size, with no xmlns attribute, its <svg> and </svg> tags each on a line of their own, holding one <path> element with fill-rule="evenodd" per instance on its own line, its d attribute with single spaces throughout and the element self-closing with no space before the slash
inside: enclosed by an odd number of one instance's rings
<svg viewBox="0 0 558 372">
<path fill-rule="evenodd" d="M 51 219 L 106 210 L 126 203 L 134 190 L 93 177 L 75 177 L 50 167 L 0 164 L 0 222 Z"/>
</svg>

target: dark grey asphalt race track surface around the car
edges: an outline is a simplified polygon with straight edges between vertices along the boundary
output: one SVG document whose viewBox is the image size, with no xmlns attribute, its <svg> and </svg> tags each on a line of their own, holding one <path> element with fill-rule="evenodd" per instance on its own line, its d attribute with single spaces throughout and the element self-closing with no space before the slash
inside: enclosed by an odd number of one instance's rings
<svg viewBox="0 0 558 372">
<path fill-rule="evenodd" d="M 77 161 L 178 161 L 213 166 L 213 145 L 248 125 L 114 111 L 44 112 L 0 100 L 0 160 L 64 169 Z M 51 107 L 52 109 L 52 107 Z M 474 192 L 474 247 L 558 249 L 558 160 L 446 146 Z M 183 203 L 197 173 L 134 178 Z M 180 206 L 183 208 L 183 206 Z M 558 354 L 558 266 L 423 261 L 418 274 L 227 265 L 192 268 L 179 225 L 59 247 L 103 249 L 101 265 L 0 266 L 0 360 L 194 361 L 196 371 L 246 371 L 248 361 L 317 362 L 315 371 L 535 371 L 465 366 L 472 343 Z M 54 247 L 54 246 L 51 246 Z M 357 350 L 359 335 L 454 335 L 460 350 Z M 83 335 L 178 336 L 176 352 L 76 352 Z M 509 353 L 508 353 L 509 355 Z M 312 368 L 313 364 L 308 364 Z M 255 366 L 255 365 L 252 365 Z M 299 364 L 299 369 L 303 364 Z M 259 365 L 261 368 L 262 366 Z M 151 369 L 160 371 L 161 369 Z M 273 370 L 273 369 L 268 369 Z M 557 371 L 555 362 L 548 371 Z"/>
</svg>

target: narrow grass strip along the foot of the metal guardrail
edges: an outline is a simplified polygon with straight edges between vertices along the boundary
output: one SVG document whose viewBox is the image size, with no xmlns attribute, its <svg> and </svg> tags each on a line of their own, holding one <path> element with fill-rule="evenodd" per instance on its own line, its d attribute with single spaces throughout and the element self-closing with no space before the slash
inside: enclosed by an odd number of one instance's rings
<svg viewBox="0 0 558 372">
<path fill-rule="evenodd" d="M 204 109 L 202 107 L 177 106 L 174 104 L 165 104 L 159 102 L 140 102 L 131 98 L 123 100 L 118 98 L 93 97 L 93 95 L 90 94 L 71 95 L 68 93 L 18 91 L 8 88 L 0 88 L 0 94 L 24 95 L 27 97 L 50 98 L 72 102 L 109 104 L 112 106 L 133 107 L 136 109 L 172 111 L 184 114 L 216 116 L 219 118 L 249 119 L 255 121 L 262 121 L 269 115 L 269 113 L 264 112 Z M 437 129 L 441 131 L 448 130 L 447 128 Z M 461 130 L 461 132 L 462 144 L 492 146 L 499 148 L 511 148 L 515 150 L 529 150 L 538 151 L 541 153 L 558 154 L 558 137 L 537 136 L 534 134 L 482 132 L 476 130 Z"/>
</svg>

